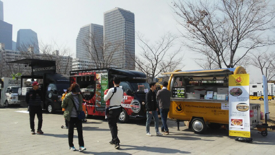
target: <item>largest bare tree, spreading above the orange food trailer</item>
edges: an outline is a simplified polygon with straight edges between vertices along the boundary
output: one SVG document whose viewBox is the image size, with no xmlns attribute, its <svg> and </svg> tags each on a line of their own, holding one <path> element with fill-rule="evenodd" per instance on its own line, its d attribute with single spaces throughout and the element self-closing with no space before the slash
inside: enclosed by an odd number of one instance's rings
<svg viewBox="0 0 275 155">
<path fill-rule="evenodd" d="M 211 59 L 218 68 L 233 68 L 251 50 L 275 43 L 268 33 L 274 29 L 275 17 L 269 2 L 179 0 L 173 9 L 185 30 L 181 32 L 187 39 L 184 45 Z"/>
</svg>

